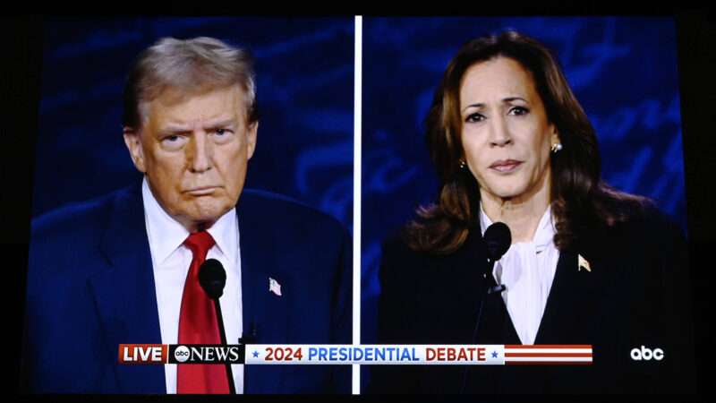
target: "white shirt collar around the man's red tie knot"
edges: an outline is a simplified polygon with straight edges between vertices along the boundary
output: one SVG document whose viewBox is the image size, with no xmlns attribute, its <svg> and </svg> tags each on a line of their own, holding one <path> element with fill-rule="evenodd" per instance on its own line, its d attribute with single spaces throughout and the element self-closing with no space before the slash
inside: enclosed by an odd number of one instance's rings
<svg viewBox="0 0 716 403">
<path fill-rule="evenodd" d="M 141 196 L 148 227 L 149 247 L 156 262 L 160 264 L 183 244 L 189 236 L 189 231 L 159 205 L 149 189 L 147 176 L 144 176 L 141 182 Z M 228 258 L 229 262 L 235 262 L 238 247 L 232 245 L 238 245 L 239 236 L 236 209 L 228 210 L 207 229 L 207 232 L 214 238 L 219 251 Z"/>
</svg>

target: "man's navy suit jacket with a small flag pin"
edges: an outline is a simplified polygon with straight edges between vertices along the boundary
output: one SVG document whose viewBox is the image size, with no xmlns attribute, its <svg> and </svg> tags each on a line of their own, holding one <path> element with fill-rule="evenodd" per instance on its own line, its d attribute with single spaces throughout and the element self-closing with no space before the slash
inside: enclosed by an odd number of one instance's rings
<svg viewBox="0 0 716 403">
<path fill-rule="evenodd" d="M 258 191 L 244 190 L 236 213 L 244 333 L 256 344 L 350 343 L 345 229 Z M 30 391 L 166 393 L 163 365 L 117 364 L 120 343 L 161 343 L 141 183 L 33 221 L 25 321 Z M 244 365 L 243 382 L 245 393 L 349 393 L 350 365 Z"/>
</svg>

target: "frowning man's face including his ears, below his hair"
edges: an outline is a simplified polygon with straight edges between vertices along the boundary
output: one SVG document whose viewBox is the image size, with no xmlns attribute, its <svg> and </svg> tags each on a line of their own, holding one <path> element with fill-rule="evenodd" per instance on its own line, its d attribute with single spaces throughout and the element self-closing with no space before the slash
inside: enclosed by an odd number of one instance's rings
<svg viewBox="0 0 716 403">
<path fill-rule="evenodd" d="M 190 232 L 210 227 L 239 200 L 258 122 L 246 124 L 238 86 L 186 95 L 167 89 L 124 131 L 134 165 L 166 212 Z"/>
</svg>

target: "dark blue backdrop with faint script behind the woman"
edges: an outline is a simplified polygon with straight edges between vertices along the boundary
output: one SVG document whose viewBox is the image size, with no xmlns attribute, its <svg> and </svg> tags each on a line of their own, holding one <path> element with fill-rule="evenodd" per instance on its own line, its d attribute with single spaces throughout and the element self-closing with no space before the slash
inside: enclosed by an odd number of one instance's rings
<svg viewBox="0 0 716 403">
<path fill-rule="evenodd" d="M 686 231 L 671 19 L 364 18 L 362 343 L 375 342 L 380 243 L 437 195 L 422 125 L 434 90 L 466 41 L 508 28 L 558 57 L 596 129 L 607 183 L 651 197 Z"/>
</svg>

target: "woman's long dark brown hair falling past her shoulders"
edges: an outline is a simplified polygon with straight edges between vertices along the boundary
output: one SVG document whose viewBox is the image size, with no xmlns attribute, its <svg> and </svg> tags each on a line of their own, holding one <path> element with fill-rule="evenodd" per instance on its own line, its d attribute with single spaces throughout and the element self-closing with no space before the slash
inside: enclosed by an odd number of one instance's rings
<svg viewBox="0 0 716 403">
<path fill-rule="evenodd" d="M 414 250 L 452 253 L 471 229 L 480 230 L 479 184 L 469 170 L 459 166 L 465 155 L 460 139 L 460 84 L 473 64 L 498 56 L 514 59 L 531 73 L 547 117 L 559 133 L 563 148 L 550 158 L 554 242 L 559 250 L 572 244 L 584 228 L 611 227 L 648 202 L 601 182 L 596 134 L 557 61 L 540 42 L 507 31 L 466 43 L 447 65 L 435 91 L 425 118 L 425 140 L 440 189 L 437 202 L 420 207 L 418 218 L 405 228 L 407 244 Z"/>
</svg>

